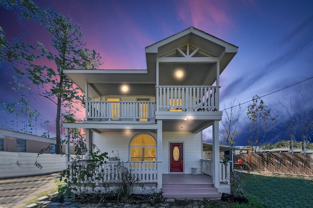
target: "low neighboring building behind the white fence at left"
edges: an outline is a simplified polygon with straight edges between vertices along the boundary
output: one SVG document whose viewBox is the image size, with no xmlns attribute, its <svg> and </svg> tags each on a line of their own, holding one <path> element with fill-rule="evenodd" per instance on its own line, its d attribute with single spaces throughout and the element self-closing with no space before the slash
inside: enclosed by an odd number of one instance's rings
<svg viewBox="0 0 313 208">
<path fill-rule="evenodd" d="M 0 129 L 0 151 L 38 153 L 51 146 L 51 144 L 55 145 L 56 140 L 28 133 Z M 55 148 L 48 149 L 44 153 L 55 153 Z"/>
</svg>

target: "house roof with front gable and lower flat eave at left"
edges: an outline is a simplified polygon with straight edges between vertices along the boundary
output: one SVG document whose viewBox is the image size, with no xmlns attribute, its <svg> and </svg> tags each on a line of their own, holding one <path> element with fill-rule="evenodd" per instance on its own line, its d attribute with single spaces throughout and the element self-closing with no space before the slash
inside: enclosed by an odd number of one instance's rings
<svg viewBox="0 0 313 208">
<path fill-rule="evenodd" d="M 145 95 L 155 95 L 157 58 L 180 58 L 178 56 L 184 54 L 183 50 L 187 50 L 187 47 L 191 50 L 198 50 L 195 51 L 199 52 L 199 56 L 202 57 L 197 58 L 212 58 L 214 61 L 160 62 L 159 69 L 162 71 L 159 73 L 159 80 L 166 84 L 176 84 L 170 75 L 171 70 L 179 64 L 186 70 L 192 71 L 187 82 L 184 83 L 185 85 L 212 85 L 216 79 L 216 60 L 220 61 L 221 74 L 236 55 L 238 49 L 237 46 L 222 39 L 211 36 L 197 28 L 189 27 L 147 46 L 145 48 L 146 70 L 64 70 L 64 73 L 83 91 L 85 91 L 85 84 L 88 82 L 90 86 L 89 96 L 91 97 L 119 95 L 118 89 L 121 82 L 133 85 L 133 91 L 130 95 L 141 95 L 142 89 L 146 90 Z M 193 71 L 195 68 L 197 69 L 196 73 Z M 159 85 L 163 83 L 160 82 Z M 177 84 L 180 85 L 180 83 Z"/>
</svg>

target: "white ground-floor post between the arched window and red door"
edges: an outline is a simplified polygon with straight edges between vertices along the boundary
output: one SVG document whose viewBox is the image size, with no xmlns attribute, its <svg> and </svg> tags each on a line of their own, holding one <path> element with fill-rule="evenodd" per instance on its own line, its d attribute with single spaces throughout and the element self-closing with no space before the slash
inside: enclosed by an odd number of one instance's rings
<svg viewBox="0 0 313 208">
<path fill-rule="evenodd" d="M 162 189 L 162 132 L 163 132 L 163 121 L 157 120 L 157 191 Z"/>
</svg>

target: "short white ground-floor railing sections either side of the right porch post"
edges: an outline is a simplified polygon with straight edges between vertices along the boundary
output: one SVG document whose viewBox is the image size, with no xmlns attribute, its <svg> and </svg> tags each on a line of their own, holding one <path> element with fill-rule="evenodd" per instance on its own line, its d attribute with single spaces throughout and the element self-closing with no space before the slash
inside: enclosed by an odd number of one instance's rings
<svg viewBox="0 0 313 208">
<path fill-rule="evenodd" d="M 219 163 L 220 182 L 230 184 L 230 163 Z M 201 172 L 213 177 L 213 160 L 201 160 Z"/>
</svg>

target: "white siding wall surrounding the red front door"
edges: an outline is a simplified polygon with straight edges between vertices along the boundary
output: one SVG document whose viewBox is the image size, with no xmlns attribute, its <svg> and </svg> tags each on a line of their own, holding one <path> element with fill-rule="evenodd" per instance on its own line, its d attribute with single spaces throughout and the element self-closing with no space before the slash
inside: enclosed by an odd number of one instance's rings
<svg viewBox="0 0 313 208">
<path fill-rule="evenodd" d="M 201 133 L 163 132 L 162 167 L 163 173 L 170 173 L 170 143 L 183 143 L 183 173 L 191 174 L 192 168 L 201 173 Z"/>
</svg>

